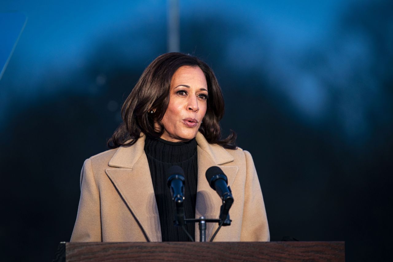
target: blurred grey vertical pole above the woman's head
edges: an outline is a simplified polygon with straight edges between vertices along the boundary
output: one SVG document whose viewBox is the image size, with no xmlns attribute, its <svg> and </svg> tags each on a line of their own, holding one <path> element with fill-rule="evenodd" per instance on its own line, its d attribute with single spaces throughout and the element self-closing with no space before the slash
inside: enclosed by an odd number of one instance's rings
<svg viewBox="0 0 393 262">
<path fill-rule="evenodd" d="M 168 52 L 180 52 L 179 0 L 168 0 Z"/>
</svg>

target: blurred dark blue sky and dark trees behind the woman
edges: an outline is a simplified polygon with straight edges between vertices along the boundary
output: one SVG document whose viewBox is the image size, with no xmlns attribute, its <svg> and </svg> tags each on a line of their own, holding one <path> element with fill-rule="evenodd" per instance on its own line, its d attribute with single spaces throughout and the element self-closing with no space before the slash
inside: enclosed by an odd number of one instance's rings
<svg viewBox="0 0 393 262">
<path fill-rule="evenodd" d="M 70 240 L 83 161 L 107 150 L 123 101 L 168 51 L 168 10 L 1 1 L 0 13 L 27 17 L 0 79 L 2 261 L 50 261 Z M 236 131 L 253 156 L 271 240 L 345 241 L 349 261 L 386 258 L 393 2 L 180 0 L 178 10 L 180 52 L 213 68 L 224 135 Z"/>
</svg>

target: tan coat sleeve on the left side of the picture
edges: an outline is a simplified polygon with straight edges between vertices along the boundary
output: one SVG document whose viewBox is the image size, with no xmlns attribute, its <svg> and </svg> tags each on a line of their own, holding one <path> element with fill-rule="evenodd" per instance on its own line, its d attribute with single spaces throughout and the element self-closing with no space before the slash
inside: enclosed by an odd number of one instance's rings
<svg viewBox="0 0 393 262">
<path fill-rule="evenodd" d="M 86 159 L 81 171 L 81 198 L 71 242 L 101 242 L 100 198 L 92 161 Z"/>
</svg>

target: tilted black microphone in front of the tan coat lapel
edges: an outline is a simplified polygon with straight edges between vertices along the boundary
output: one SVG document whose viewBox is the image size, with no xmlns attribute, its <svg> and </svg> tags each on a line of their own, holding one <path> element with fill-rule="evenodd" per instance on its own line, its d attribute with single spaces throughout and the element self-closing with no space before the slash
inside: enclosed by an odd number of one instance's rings
<svg viewBox="0 0 393 262">
<path fill-rule="evenodd" d="M 228 186 L 228 179 L 218 166 L 211 166 L 206 170 L 206 179 L 208 179 L 210 187 L 213 188 L 222 199 L 220 219 L 225 221 L 233 203 L 233 196 L 231 188 Z"/>
</svg>

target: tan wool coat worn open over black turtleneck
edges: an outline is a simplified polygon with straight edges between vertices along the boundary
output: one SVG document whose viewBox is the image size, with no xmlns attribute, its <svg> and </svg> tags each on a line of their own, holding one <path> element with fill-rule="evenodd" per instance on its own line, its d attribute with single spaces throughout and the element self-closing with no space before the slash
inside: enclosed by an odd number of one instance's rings
<svg viewBox="0 0 393 262">
<path fill-rule="evenodd" d="M 222 227 L 214 241 L 269 241 L 261 187 L 250 153 L 209 144 L 201 133 L 196 142 L 195 217 L 219 217 L 221 199 L 205 177 L 210 166 L 219 166 L 228 177 L 235 201 L 230 210 L 231 225 Z M 162 241 L 144 143 L 143 136 L 132 146 L 110 149 L 84 162 L 72 242 Z M 207 223 L 207 240 L 217 227 L 217 223 Z M 198 224 L 195 240 L 199 240 Z"/>
</svg>

